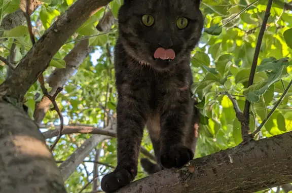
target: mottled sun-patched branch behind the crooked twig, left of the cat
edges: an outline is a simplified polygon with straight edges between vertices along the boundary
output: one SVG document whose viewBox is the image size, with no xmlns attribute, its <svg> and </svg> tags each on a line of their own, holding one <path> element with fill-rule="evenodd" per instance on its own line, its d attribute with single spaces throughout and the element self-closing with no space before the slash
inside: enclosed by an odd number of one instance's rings
<svg viewBox="0 0 292 193">
<path fill-rule="evenodd" d="M 79 68 L 91 50 L 91 47 L 88 47 L 88 39 L 85 39 L 78 42 L 64 57 L 66 67 L 56 68 L 47 79 L 47 83 L 52 88 L 49 92 L 51 96 L 56 93 L 58 87 L 63 87 L 63 85 L 71 78 L 71 75 Z M 44 96 L 40 102 L 35 104 L 35 110 L 33 113 L 35 123 L 40 124 L 43 121 L 51 105 L 52 102 L 46 96 Z"/>
</svg>

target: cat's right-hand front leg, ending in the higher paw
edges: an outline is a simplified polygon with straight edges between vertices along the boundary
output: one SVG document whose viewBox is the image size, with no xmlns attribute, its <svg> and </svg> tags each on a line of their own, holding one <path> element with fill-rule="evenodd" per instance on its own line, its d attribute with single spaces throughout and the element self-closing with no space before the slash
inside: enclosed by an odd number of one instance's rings
<svg viewBox="0 0 292 193">
<path fill-rule="evenodd" d="M 194 157 L 193 150 L 186 146 L 193 114 L 190 100 L 187 93 L 180 93 L 179 98 L 167 102 L 169 104 L 161 114 L 160 161 L 164 168 L 182 167 Z"/>
</svg>

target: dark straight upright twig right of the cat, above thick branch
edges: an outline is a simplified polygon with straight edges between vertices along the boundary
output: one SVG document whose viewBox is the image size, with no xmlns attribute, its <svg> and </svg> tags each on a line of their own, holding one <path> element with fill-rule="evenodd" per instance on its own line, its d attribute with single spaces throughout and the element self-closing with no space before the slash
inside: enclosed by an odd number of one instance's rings
<svg viewBox="0 0 292 193">
<path fill-rule="evenodd" d="M 258 64 L 258 58 L 259 58 L 259 54 L 260 54 L 260 49 L 261 49 L 266 25 L 267 25 L 269 16 L 271 14 L 270 11 L 271 11 L 271 7 L 272 7 L 272 3 L 273 3 L 273 0 L 269 0 L 268 5 L 267 5 L 267 9 L 265 12 L 265 16 L 263 19 L 263 23 L 262 23 L 262 26 L 261 26 L 261 29 L 259 32 L 257 46 L 255 46 L 252 65 L 251 65 L 249 79 L 248 79 L 248 87 L 253 84 L 253 78 L 254 78 L 254 74 L 255 74 L 255 69 L 257 68 L 257 64 Z M 245 99 L 243 113 L 244 113 L 246 124 L 249 124 L 249 108 L 250 108 L 250 102 L 247 99 Z M 246 128 L 241 128 L 241 129 L 243 129 L 243 131 L 241 132 L 243 134 L 242 137 L 248 139 L 249 138 L 248 135 L 250 134 L 249 128 L 246 127 Z"/>
</svg>

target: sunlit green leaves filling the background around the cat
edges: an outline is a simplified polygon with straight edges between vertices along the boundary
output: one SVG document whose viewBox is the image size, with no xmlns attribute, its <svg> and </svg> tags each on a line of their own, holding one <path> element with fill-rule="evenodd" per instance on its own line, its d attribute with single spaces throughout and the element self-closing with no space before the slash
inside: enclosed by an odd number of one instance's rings
<svg viewBox="0 0 292 193">
<path fill-rule="evenodd" d="M 38 39 L 75 1 L 43 0 L 43 2 L 44 4 L 31 15 L 33 32 Z M 109 4 L 115 17 L 121 4 L 121 0 L 114 0 Z M 226 91 L 237 99 L 242 111 L 245 99 L 251 102 L 250 129 L 253 131 L 266 119 L 291 80 L 292 12 L 283 9 L 283 0 L 275 0 L 263 38 L 254 84 L 247 88 L 254 48 L 266 4 L 267 1 L 263 0 L 253 3 L 248 0 L 202 2 L 205 28 L 191 60 L 195 82 L 192 90 L 199 102 L 196 106 L 201 113 L 196 157 L 234 147 L 241 142 L 240 123 L 235 117 L 231 100 L 225 95 Z M 17 0 L 0 0 L 0 22 L 18 6 Z M 67 43 L 53 57 L 50 67 L 44 74 L 46 78 L 54 68 L 64 68 L 66 65 L 64 56 L 74 47 L 77 40 L 89 36 L 89 44 L 94 48 L 93 52 L 84 60 L 77 73 L 66 83 L 63 92 L 57 97 L 65 124 L 102 127 L 106 123 L 107 113 L 115 115 L 117 97 L 112 55 L 117 37 L 117 25 L 106 33 L 96 30 L 95 26 L 103 16 L 104 10 L 104 8 L 100 9 L 76 31 L 75 35 L 68 38 Z M 32 47 L 27 26 L 0 30 L 4 31 L 0 39 L 0 55 L 8 57 L 9 48 L 15 43 L 15 62 L 19 62 Z M 108 57 L 108 54 L 111 57 Z M 6 67 L 0 66 L 0 84 L 5 80 L 6 72 Z M 49 86 L 46 86 L 49 89 Z M 35 98 L 36 93 L 40 96 Z M 31 117 L 35 102 L 40 101 L 42 96 L 40 84 L 36 82 L 25 97 L 25 104 L 29 107 Z M 257 136 L 258 139 L 292 130 L 291 96 L 292 91 L 288 91 L 282 103 L 262 128 L 261 134 Z M 43 122 L 48 127 L 53 124 L 58 125 L 57 113 L 49 111 Z M 147 131 L 144 136 L 142 146 L 152 152 Z M 55 148 L 55 159 L 65 160 L 89 137 L 89 134 L 63 136 Z M 53 141 L 54 139 L 48 140 L 48 144 L 52 144 Z M 97 147 L 102 149 L 99 161 L 115 166 L 116 147 L 115 138 L 100 143 Z M 94 160 L 94 158 L 95 150 L 86 160 Z M 92 179 L 92 166 L 93 163 L 81 164 L 66 180 L 68 192 L 79 192 Z M 111 170 L 104 166 L 100 166 L 99 169 L 100 175 Z M 136 179 L 145 176 L 139 166 Z M 91 191 L 91 188 L 90 184 L 83 191 Z"/>
</svg>

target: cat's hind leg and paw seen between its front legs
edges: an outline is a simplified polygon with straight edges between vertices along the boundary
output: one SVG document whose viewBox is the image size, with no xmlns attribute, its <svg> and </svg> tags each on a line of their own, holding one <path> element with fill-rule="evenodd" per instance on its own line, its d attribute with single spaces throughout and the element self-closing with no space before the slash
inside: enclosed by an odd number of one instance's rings
<svg viewBox="0 0 292 193">
<path fill-rule="evenodd" d="M 162 165 L 160 164 L 160 141 L 155 137 L 150 137 L 150 139 L 152 141 L 152 146 L 154 149 L 157 164 L 151 162 L 147 158 L 141 158 L 141 160 L 140 160 L 142 168 L 149 175 L 154 174 L 156 172 L 159 172 L 163 169 Z"/>
</svg>

